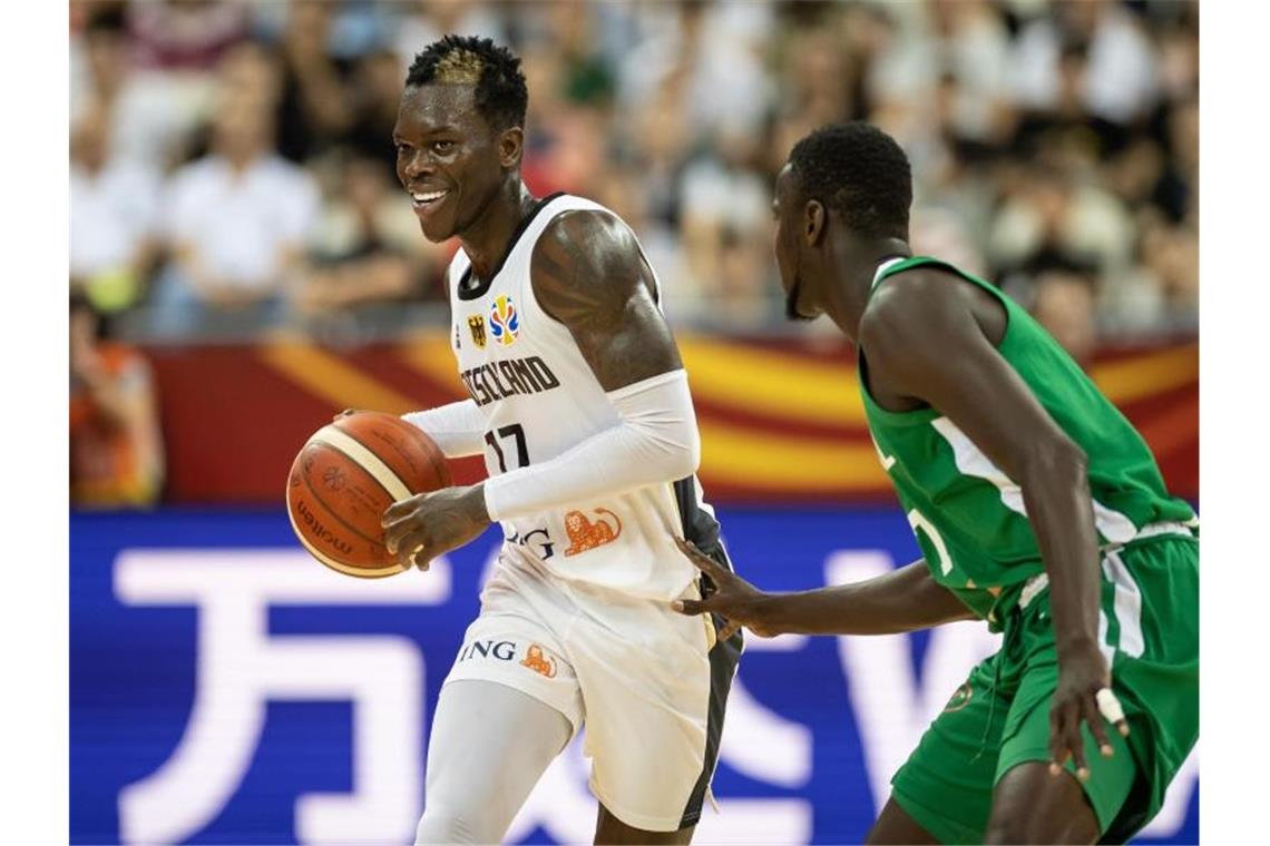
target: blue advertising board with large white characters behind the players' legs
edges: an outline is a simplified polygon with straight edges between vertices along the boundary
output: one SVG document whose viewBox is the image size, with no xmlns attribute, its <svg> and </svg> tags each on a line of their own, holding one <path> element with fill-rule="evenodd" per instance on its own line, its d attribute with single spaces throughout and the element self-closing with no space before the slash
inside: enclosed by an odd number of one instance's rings
<svg viewBox="0 0 1270 846">
<path fill-rule="evenodd" d="M 766 589 L 916 557 L 895 509 L 720 510 Z M 70 580 L 75 843 L 410 842 L 437 694 L 499 537 L 427 573 L 321 567 L 281 511 L 76 514 Z M 695 842 L 859 842 L 969 668 L 982 624 L 874 638 L 748 638 Z M 591 842 L 575 742 L 508 842 Z M 1138 842 L 1196 842 L 1193 755 Z"/>
</svg>

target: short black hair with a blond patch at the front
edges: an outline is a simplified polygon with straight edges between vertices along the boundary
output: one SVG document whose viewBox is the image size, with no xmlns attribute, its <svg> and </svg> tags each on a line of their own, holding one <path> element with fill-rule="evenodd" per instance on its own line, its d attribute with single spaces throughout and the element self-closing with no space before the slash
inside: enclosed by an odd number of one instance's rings
<svg viewBox="0 0 1270 846">
<path fill-rule="evenodd" d="M 525 127 L 530 90 L 521 60 L 489 38 L 444 36 L 417 53 L 406 88 L 437 84 L 476 86 L 476 110 L 494 131 Z"/>
</svg>

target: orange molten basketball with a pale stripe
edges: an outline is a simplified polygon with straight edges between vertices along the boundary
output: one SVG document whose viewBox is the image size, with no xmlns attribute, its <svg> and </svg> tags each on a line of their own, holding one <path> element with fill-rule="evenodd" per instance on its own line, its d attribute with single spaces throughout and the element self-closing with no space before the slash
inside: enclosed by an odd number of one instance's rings
<svg viewBox="0 0 1270 846">
<path fill-rule="evenodd" d="M 380 520 L 394 502 L 450 487 L 441 449 L 417 426 L 357 411 L 323 426 L 291 464 L 287 515 L 312 557 L 349 576 L 404 568 L 384 545 Z"/>
</svg>

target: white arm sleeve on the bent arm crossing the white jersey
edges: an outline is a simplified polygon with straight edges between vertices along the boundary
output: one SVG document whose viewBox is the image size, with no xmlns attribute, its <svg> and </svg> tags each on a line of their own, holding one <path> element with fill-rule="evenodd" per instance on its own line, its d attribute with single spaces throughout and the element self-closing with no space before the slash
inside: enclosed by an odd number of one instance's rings
<svg viewBox="0 0 1270 846">
<path fill-rule="evenodd" d="M 549 462 L 485 482 L 491 520 L 582 504 L 649 485 L 692 476 L 701 463 L 701 436 L 679 369 L 606 394 L 618 422 Z"/>
</svg>

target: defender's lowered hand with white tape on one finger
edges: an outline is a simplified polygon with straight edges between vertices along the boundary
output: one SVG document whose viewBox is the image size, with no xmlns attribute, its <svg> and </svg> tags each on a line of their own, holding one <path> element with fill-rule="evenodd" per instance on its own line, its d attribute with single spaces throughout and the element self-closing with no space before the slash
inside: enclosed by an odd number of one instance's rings
<svg viewBox="0 0 1270 846">
<path fill-rule="evenodd" d="M 1074 758 L 1076 778 L 1081 781 L 1090 778 L 1081 723 L 1088 724 L 1102 756 L 1111 757 L 1104 719 L 1113 723 L 1121 737 L 1129 736 L 1124 710 L 1111 693 L 1111 671 L 1106 658 L 1097 644 L 1091 643 L 1058 660 L 1058 687 L 1049 712 L 1050 775 L 1062 772 L 1067 760 Z"/>
</svg>

